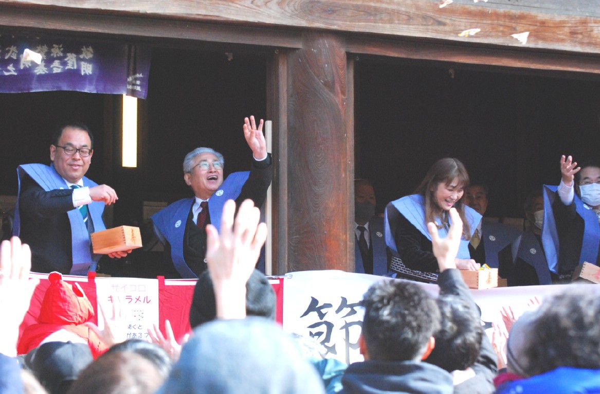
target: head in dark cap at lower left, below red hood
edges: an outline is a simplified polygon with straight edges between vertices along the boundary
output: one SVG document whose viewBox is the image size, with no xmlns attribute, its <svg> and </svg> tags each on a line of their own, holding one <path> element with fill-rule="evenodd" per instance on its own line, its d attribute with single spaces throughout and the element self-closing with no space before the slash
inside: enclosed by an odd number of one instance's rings
<svg viewBox="0 0 600 394">
<path fill-rule="evenodd" d="M 25 366 L 50 394 L 62 394 L 93 360 L 87 344 L 46 342 L 26 355 Z"/>
</svg>

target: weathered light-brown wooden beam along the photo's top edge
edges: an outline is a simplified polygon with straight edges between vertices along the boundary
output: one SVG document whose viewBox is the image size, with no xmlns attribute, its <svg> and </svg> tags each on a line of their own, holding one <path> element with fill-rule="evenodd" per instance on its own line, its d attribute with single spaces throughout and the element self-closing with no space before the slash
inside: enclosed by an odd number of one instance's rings
<svg viewBox="0 0 600 394">
<path fill-rule="evenodd" d="M 440 8 L 437 0 L 173 0 L 154 1 L 102 1 L 102 0 L 29 0 L 0 3 L 13 6 L 27 5 L 31 18 L 33 5 L 73 10 L 94 10 L 103 14 L 122 13 L 133 19 L 151 21 L 151 17 L 196 20 L 220 24 L 235 23 L 246 26 L 279 26 L 288 29 L 310 28 L 329 31 L 361 32 L 397 37 L 434 38 L 458 43 L 484 43 L 508 47 L 565 50 L 568 52 L 600 52 L 600 18 L 598 2 L 587 2 L 581 7 L 562 5 L 557 1 L 523 0 L 518 2 L 460 1 Z M 564 2 L 571 3 L 571 2 Z M 1 14 L 1 13 L 0 13 Z M 148 18 L 146 18 L 148 17 Z M 80 25 L 64 26 L 66 29 L 102 30 L 96 17 Z M 100 18 L 101 19 L 101 18 Z M 10 23 L 2 18 L 5 23 Z M 40 20 L 43 23 L 43 20 Z M 88 26 L 88 22 L 92 26 Z M 20 23 L 20 22 L 19 22 Z M 96 26 L 94 26 L 96 25 Z M 78 27 L 79 26 L 79 27 Z M 124 25 L 134 35 L 146 35 L 142 26 Z M 467 29 L 481 29 L 475 35 L 459 37 Z M 232 34 L 224 29 L 223 33 Z M 529 31 L 526 44 L 521 44 L 512 34 Z M 180 30 L 189 38 L 185 24 Z M 196 36 L 199 32 L 194 32 Z M 240 39 L 240 35 L 233 34 Z M 184 37 L 185 36 L 185 37 Z M 214 40 L 216 37 L 212 37 Z M 261 37 L 264 41 L 266 37 Z M 248 37 L 248 40 L 251 40 Z M 276 40 L 277 37 L 272 37 Z M 223 41 L 227 41 L 226 38 Z"/>
</svg>

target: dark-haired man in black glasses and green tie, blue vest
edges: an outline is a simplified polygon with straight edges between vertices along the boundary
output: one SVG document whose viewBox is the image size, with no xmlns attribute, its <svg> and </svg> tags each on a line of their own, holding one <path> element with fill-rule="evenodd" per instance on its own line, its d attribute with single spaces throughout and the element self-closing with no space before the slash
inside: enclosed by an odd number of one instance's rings
<svg viewBox="0 0 600 394">
<path fill-rule="evenodd" d="M 31 247 L 31 270 L 85 275 L 97 268 L 89 234 L 106 229 L 104 205 L 117 195 L 84 175 L 94 154 L 94 136 L 79 122 L 56 129 L 50 145 L 50 166 L 19 166 L 19 199 L 13 235 Z M 122 257 L 126 252 L 111 253 Z"/>
</svg>

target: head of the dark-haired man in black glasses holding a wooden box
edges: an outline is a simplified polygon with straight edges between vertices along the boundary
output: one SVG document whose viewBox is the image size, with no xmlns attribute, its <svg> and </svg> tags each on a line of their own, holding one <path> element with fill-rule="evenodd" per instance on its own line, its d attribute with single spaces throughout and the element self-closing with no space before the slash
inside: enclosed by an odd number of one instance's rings
<svg viewBox="0 0 600 394">
<path fill-rule="evenodd" d="M 94 136 L 85 124 L 71 121 L 52 136 L 50 160 L 62 178 L 77 183 L 88 172 L 94 154 Z"/>
</svg>

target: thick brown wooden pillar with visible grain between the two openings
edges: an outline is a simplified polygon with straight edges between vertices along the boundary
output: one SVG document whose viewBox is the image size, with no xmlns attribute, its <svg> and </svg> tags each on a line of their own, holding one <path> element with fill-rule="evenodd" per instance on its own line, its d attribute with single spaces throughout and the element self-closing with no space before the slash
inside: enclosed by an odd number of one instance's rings
<svg viewBox="0 0 600 394">
<path fill-rule="evenodd" d="M 305 33 L 302 49 L 289 50 L 279 64 L 287 70 L 278 136 L 286 141 L 278 158 L 279 190 L 287 199 L 278 214 L 286 229 L 277 253 L 287 264 L 279 265 L 288 272 L 352 271 L 352 64 L 340 38 L 315 32 Z"/>
</svg>

